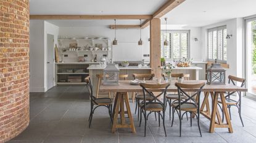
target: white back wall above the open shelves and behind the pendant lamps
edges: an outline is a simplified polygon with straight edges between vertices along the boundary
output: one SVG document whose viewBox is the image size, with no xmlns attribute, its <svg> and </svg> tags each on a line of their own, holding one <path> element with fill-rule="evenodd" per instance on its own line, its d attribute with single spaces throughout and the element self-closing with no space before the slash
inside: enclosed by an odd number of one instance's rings
<svg viewBox="0 0 256 143">
<path fill-rule="evenodd" d="M 61 38 L 109 37 L 110 42 L 112 42 L 112 40 L 115 37 L 114 29 L 110 29 L 108 26 L 60 27 L 59 35 Z M 138 48 L 142 48 L 142 50 L 141 49 L 139 49 L 138 51 L 130 50 L 129 48 L 123 47 L 122 45 L 124 45 L 124 43 L 127 43 L 130 45 L 137 46 L 139 41 L 139 29 L 117 29 L 117 41 L 119 44 L 112 47 L 113 53 L 120 53 L 120 48 L 121 48 L 124 50 L 124 53 L 125 53 L 121 55 L 123 56 L 123 60 L 133 60 L 133 53 L 139 52 L 138 54 L 141 54 L 140 60 L 142 60 L 143 54 L 150 53 L 148 39 L 149 39 L 149 28 L 142 29 L 143 45 L 142 47 L 138 47 Z M 72 53 L 69 53 L 68 56 L 72 56 Z M 100 58 L 101 55 L 98 55 L 98 57 Z M 91 58 L 91 56 L 89 58 Z M 114 60 L 119 60 L 120 56 L 114 56 L 113 58 Z"/>
</svg>

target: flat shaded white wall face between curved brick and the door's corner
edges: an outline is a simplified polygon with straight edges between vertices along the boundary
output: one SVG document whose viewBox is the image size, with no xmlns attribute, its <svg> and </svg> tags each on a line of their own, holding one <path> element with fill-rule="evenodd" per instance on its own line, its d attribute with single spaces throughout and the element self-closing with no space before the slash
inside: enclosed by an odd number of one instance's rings
<svg viewBox="0 0 256 143">
<path fill-rule="evenodd" d="M 44 21 L 30 20 L 30 92 L 44 92 Z"/>
</svg>

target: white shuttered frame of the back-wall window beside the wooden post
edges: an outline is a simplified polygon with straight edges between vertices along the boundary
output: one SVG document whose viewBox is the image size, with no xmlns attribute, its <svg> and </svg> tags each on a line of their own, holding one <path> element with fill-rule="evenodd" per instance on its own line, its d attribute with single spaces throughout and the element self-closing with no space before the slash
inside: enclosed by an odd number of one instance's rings
<svg viewBox="0 0 256 143">
<path fill-rule="evenodd" d="M 161 30 L 161 35 L 162 35 L 162 33 L 163 34 L 165 34 L 165 30 Z M 188 34 L 188 39 L 187 39 L 187 48 L 188 48 L 188 56 L 187 56 L 187 58 L 190 58 L 190 29 L 182 29 L 182 30 L 176 30 L 176 29 L 174 29 L 174 30 L 167 30 L 167 34 L 169 34 L 169 36 L 170 36 L 170 33 L 186 33 L 186 34 Z M 171 50 L 170 51 L 170 58 L 166 58 L 167 60 L 169 59 L 173 59 L 173 48 L 171 48 L 171 47 L 173 47 L 173 42 L 172 42 L 172 40 L 171 40 L 171 38 L 172 38 L 172 36 L 170 36 L 169 37 L 169 39 L 167 39 L 167 41 L 169 42 L 169 45 L 168 45 L 168 47 L 169 47 L 169 50 Z M 165 37 L 163 37 L 163 41 L 165 40 Z M 161 41 L 161 52 L 162 52 L 162 47 L 164 47 L 164 45 L 163 45 L 163 41 Z M 180 45 L 181 45 L 181 34 L 180 34 Z M 162 53 L 161 53 L 161 55 L 162 55 Z M 181 56 L 181 47 L 180 47 L 180 56 Z M 165 57 L 164 57 L 165 58 Z M 180 57 L 180 58 L 183 58 L 183 57 Z"/>
</svg>

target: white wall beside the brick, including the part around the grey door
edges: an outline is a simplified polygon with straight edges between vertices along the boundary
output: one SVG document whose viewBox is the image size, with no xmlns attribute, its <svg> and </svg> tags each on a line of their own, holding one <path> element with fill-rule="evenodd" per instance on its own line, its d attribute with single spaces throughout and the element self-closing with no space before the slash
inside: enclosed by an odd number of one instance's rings
<svg viewBox="0 0 256 143">
<path fill-rule="evenodd" d="M 30 20 L 30 92 L 47 91 L 47 34 L 54 35 L 57 44 L 58 33 L 58 26 Z"/>
</svg>

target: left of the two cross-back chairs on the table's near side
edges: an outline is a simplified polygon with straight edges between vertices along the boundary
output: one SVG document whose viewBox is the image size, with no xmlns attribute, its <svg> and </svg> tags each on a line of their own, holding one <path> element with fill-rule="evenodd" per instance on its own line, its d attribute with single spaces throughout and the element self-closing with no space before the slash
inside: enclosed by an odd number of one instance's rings
<svg viewBox="0 0 256 143">
<path fill-rule="evenodd" d="M 160 126 L 160 115 L 163 120 L 163 129 L 165 131 L 165 102 L 166 98 L 165 95 L 167 94 L 167 88 L 170 86 L 170 83 L 162 83 L 162 84 L 150 84 L 150 83 L 140 83 L 140 86 L 142 87 L 143 91 L 143 99 L 141 104 L 141 118 L 139 121 L 139 126 L 141 126 L 141 120 L 142 120 L 142 114 L 144 115 L 144 136 L 146 136 L 146 126 L 147 126 L 147 117 L 152 113 L 158 113 L 159 114 L 159 126 Z M 154 95 L 150 90 L 151 89 L 162 89 L 159 95 Z M 163 95 L 163 102 L 160 101 L 158 98 Z M 147 100 L 147 96 L 151 96 L 154 100 Z M 147 114 L 147 111 L 149 111 L 149 114 Z M 161 114 L 162 112 L 162 114 Z M 165 136 L 167 136 L 165 131 Z"/>
</svg>

